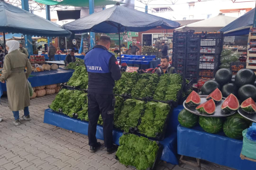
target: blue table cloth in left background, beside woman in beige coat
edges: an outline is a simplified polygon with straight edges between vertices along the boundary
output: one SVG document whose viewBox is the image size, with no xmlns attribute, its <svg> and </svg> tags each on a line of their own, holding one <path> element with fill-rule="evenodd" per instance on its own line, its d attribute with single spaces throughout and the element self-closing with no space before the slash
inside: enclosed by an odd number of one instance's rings
<svg viewBox="0 0 256 170">
<path fill-rule="evenodd" d="M 43 71 L 43 72 L 32 72 L 31 75 L 34 77 L 28 77 L 28 81 L 31 83 L 32 87 L 37 86 L 45 86 L 51 84 L 58 84 L 62 82 L 68 82 L 70 77 L 72 76 L 74 70 L 64 70 L 64 69 L 57 69 L 52 71 Z M 1 89 L 6 91 L 6 84 L 1 83 Z"/>
</svg>

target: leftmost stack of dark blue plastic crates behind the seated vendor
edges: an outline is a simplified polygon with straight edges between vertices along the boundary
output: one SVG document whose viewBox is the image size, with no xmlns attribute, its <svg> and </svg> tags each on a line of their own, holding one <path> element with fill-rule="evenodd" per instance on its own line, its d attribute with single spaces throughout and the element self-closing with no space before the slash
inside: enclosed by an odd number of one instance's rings
<svg viewBox="0 0 256 170">
<path fill-rule="evenodd" d="M 180 74 L 186 72 L 186 38 L 187 32 L 173 31 L 173 67 Z"/>
</svg>

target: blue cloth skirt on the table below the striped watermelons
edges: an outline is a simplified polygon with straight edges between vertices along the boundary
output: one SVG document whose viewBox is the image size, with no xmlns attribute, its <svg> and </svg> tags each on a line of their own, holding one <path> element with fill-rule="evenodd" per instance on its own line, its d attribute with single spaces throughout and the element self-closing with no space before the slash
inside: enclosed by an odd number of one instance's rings
<svg viewBox="0 0 256 170">
<path fill-rule="evenodd" d="M 223 132 L 210 134 L 198 125 L 177 127 L 178 154 L 196 157 L 239 170 L 255 170 L 256 162 L 241 160 L 243 140 L 228 138 Z"/>
</svg>

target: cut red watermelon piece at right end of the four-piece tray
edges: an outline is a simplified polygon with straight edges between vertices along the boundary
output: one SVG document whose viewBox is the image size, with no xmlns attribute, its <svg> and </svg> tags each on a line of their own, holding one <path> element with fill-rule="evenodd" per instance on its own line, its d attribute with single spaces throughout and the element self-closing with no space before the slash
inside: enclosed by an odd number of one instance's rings
<svg viewBox="0 0 256 170">
<path fill-rule="evenodd" d="M 226 98 L 224 100 L 224 102 L 221 105 L 221 109 L 225 112 L 225 113 L 229 113 L 231 111 L 236 111 L 239 108 L 239 101 L 236 98 L 236 96 L 234 96 L 234 94 L 230 94 L 228 96 L 228 98 Z"/>
</svg>

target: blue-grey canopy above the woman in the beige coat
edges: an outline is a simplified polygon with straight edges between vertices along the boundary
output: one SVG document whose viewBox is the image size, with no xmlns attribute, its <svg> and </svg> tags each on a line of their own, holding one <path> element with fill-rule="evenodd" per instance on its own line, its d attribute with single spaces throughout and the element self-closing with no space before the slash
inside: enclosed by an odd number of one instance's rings
<svg viewBox="0 0 256 170">
<path fill-rule="evenodd" d="M 1 32 L 45 37 L 68 37 L 71 34 L 70 31 L 59 28 L 59 25 L 56 23 L 52 23 L 4 1 L 0 1 L 0 21 Z"/>
</svg>

